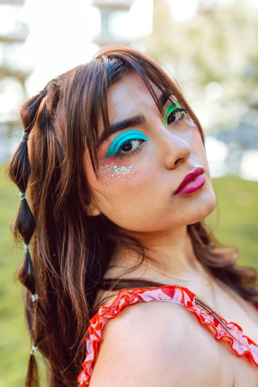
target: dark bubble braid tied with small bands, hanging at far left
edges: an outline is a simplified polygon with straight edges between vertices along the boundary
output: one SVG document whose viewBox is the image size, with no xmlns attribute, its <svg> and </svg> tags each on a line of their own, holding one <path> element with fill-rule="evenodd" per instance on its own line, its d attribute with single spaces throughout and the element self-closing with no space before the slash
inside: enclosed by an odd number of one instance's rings
<svg viewBox="0 0 258 387">
<path fill-rule="evenodd" d="M 33 315 L 31 315 L 32 326 L 29 326 L 30 336 L 34 345 L 32 346 L 31 356 L 29 359 L 28 373 L 26 377 L 26 386 L 27 387 L 38 387 L 38 365 L 35 359 L 34 352 L 37 349 L 37 336 L 35 335 L 35 322 L 36 322 L 36 308 L 38 306 L 38 295 L 35 293 L 35 273 L 34 267 L 30 255 L 30 241 L 33 236 L 36 227 L 35 217 L 28 205 L 26 198 L 26 189 L 30 177 L 30 162 L 27 149 L 27 140 L 31 129 L 34 126 L 39 106 L 45 96 L 45 89 L 40 91 L 39 94 L 28 100 L 22 107 L 22 124 L 24 131 L 22 133 L 21 142 L 11 159 L 8 165 L 8 175 L 10 179 L 18 186 L 20 190 L 20 207 L 18 209 L 17 215 L 14 221 L 11 224 L 11 230 L 14 235 L 16 242 L 20 241 L 21 238 L 24 240 L 24 250 L 25 256 L 23 261 L 18 269 L 18 279 L 21 283 L 29 290 L 31 293 L 27 293 L 27 304 L 28 302 L 35 302 L 36 306 Z M 26 307 L 26 309 L 28 309 Z"/>
</svg>

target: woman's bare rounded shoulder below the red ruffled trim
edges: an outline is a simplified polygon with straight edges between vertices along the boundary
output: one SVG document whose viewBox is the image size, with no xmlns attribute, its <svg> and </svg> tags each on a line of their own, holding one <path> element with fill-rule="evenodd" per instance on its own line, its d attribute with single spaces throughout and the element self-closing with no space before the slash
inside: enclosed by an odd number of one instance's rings
<svg viewBox="0 0 258 387">
<path fill-rule="evenodd" d="M 90 387 L 220 386 L 220 345 L 172 302 L 127 305 L 107 321 Z"/>
</svg>

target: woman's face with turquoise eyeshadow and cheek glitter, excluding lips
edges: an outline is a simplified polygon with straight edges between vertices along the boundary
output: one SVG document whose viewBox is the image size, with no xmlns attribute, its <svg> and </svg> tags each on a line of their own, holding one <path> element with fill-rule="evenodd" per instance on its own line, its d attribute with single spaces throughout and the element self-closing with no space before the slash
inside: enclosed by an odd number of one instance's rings
<svg viewBox="0 0 258 387">
<path fill-rule="evenodd" d="M 167 101 L 164 107 L 162 118 L 136 74 L 110 86 L 109 120 L 119 130 L 100 145 L 101 181 L 85 152 L 92 197 L 89 215 L 103 214 L 130 231 L 153 232 L 195 223 L 214 210 L 216 198 L 201 134 L 179 105 Z M 118 125 L 125 120 L 131 122 Z M 102 122 L 99 130 L 101 136 Z M 204 185 L 175 195 L 184 177 L 197 167 L 204 169 Z"/>
</svg>

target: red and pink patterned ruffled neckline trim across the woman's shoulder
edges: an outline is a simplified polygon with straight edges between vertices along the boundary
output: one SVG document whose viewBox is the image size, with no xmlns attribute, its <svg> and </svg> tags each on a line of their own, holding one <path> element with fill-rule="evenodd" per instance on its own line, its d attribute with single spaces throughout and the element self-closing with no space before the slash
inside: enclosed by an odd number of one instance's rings
<svg viewBox="0 0 258 387">
<path fill-rule="evenodd" d="M 195 294 L 188 289 L 176 285 L 151 289 L 135 288 L 131 292 L 120 290 L 117 298 L 110 306 L 100 306 L 98 312 L 90 319 L 89 336 L 86 338 L 86 359 L 83 363 L 83 370 L 78 377 L 79 387 L 86 387 L 89 384 L 94 360 L 101 343 L 102 329 L 106 321 L 117 316 L 126 305 L 140 301 L 169 301 L 184 305 L 190 312 L 196 314 L 201 324 L 214 328 L 216 340 L 228 338 L 231 342 L 230 346 L 237 356 L 250 357 L 258 366 L 258 345 L 243 335 L 243 330 L 238 324 L 228 323 L 223 317 L 219 316 L 228 328 L 232 328 L 232 335 L 237 341 L 234 340 L 208 311 L 196 304 Z M 256 307 L 258 308 L 258 304 L 256 304 Z"/>
</svg>

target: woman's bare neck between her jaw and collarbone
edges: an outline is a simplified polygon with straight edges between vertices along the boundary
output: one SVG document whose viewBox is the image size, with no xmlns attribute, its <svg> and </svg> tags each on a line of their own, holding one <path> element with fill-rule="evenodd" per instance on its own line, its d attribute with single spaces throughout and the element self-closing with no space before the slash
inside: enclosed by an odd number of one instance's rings
<svg viewBox="0 0 258 387">
<path fill-rule="evenodd" d="M 161 270 L 178 276 L 200 274 L 200 263 L 198 264 L 198 259 L 194 253 L 191 238 L 187 233 L 187 226 L 140 233 L 137 234 L 137 239 L 147 248 L 146 256 L 152 259 L 151 263 Z M 116 251 L 119 256 L 119 247 Z M 121 252 L 140 259 L 140 256 L 129 249 L 121 250 Z M 123 259 L 123 257 L 121 258 Z"/>
</svg>

